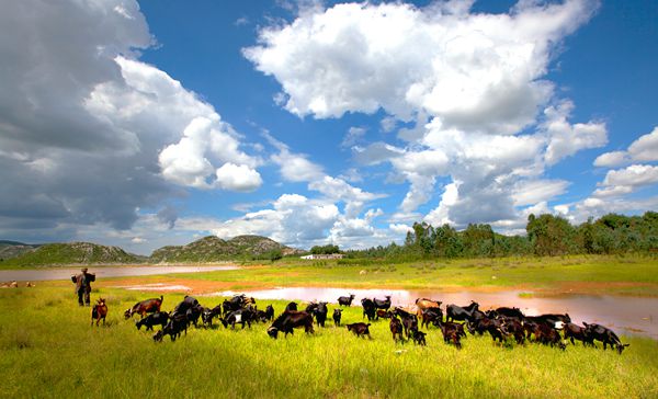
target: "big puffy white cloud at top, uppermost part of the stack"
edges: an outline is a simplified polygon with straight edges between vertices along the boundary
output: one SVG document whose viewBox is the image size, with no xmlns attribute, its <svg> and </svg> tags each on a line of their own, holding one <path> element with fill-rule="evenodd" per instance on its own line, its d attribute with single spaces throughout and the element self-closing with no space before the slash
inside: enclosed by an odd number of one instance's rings
<svg viewBox="0 0 658 399">
<path fill-rule="evenodd" d="M 405 121 L 423 111 L 451 127 L 515 133 L 552 95 L 542 77 L 555 44 L 597 3 L 521 2 L 509 14 L 460 4 L 337 4 L 261 30 L 243 54 L 300 116 L 383 107 Z"/>
</svg>

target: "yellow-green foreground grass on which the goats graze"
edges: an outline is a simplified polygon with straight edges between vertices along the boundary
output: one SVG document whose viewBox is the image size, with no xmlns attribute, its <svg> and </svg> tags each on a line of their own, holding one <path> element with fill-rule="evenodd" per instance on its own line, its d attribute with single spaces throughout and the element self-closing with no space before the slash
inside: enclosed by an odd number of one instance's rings
<svg viewBox="0 0 658 399">
<path fill-rule="evenodd" d="M 443 344 L 436 329 L 427 347 L 394 344 L 382 321 L 371 327 L 372 341 L 333 327 L 275 341 L 258 324 L 243 331 L 192 328 L 175 342 L 156 344 L 152 333 L 123 320 L 124 309 L 154 293 L 94 289 L 92 299 L 99 296 L 109 300 L 104 328 L 89 326 L 90 309 L 77 306 L 70 286 L 0 290 L 0 396 L 658 397 L 658 342 L 650 339 L 623 337 L 631 346 L 621 356 L 580 345 L 565 352 L 501 347 L 489 337 L 468 337 L 457 351 Z M 162 307 L 171 310 L 181 299 L 164 294 Z M 279 314 L 284 304 L 273 304 Z M 360 320 L 361 308 L 343 312 L 343 322 Z"/>
</svg>

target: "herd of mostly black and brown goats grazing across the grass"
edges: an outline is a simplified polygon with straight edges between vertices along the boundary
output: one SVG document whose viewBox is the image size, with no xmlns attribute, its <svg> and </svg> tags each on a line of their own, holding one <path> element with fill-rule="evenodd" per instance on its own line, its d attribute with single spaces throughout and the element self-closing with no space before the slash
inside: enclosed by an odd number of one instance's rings
<svg viewBox="0 0 658 399">
<path fill-rule="evenodd" d="M 310 303 L 305 310 L 298 310 L 298 304 L 292 301 L 275 319 L 272 305 L 268 305 L 265 310 L 258 309 L 256 299 L 243 294 L 225 299 L 214 308 L 204 307 L 194 297 L 185 296 L 171 312 L 166 312 L 160 310 L 162 299 L 163 297 L 160 296 L 141 300 L 124 314 L 126 319 L 134 315 L 141 317 L 136 321 L 137 329 L 145 327 L 152 331 L 155 326 L 161 326 L 161 329 L 154 335 L 156 342 L 162 341 L 164 335 L 169 335 L 171 341 L 175 341 L 182 332 L 188 334 L 190 324 L 197 327 L 200 319 L 203 326 L 212 327 L 215 318 L 225 328 L 230 326 L 232 329 L 236 323 L 241 324 L 243 329 L 246 324 L 251 328 L 252 322 L 270 321 L 272 324 L 268 328 L 268 334 L 273 339 L 276 339 L 280 332 L 287 337 L 288 333 L 294 333 L 294 329 L 300 328 L 304 328 L 306 333 L 314 333 L 314 323 L 317 323 L 318 328 L 324 328 L 329 314 L 326 301 Z M 339 307 L 333 309 L 332 314 L 336 327 L 341 326 L 342 307 L 350 307 L 353 300 L 354 295 L 338 298 Z M 569 340 L 571 344 L 578 340 L 583 345 L 592 347 L 595 347 L 594 341 L 600 341 L 603 343 L 604 350 L 610 346 L 620 354 L 628 346 L 628 344 L 623 344 L 609 328 L 585 322 L 583 326 L 575 324 L 568 314 L 525 316 L 519 308 L 509 307 L 481 311 L 475 301 L 464 307 L 447 305 L 444 312 L 441 301 L 428 298 L 416 299 L 415 311 L 410 311 L 401 307 L 392 309 L 390 296 L 386 296 L 385 299 L 363 298 L 361 305 L 363 319 L 367 318 L 367 321 L 388 319 L 393 340 L 400 343 L 411 340 L 419 345 L 426 345 L 427 333 L 421 329 L 434 326 L 441 330 L 444 342 L 453 344 L 457 349 L 462 347 L 461 340 L 466 338 L 466 331 L 473 335 L 489 333 L 494 342 L 498 341 L 499 343 L 513 340 L 518 344 L 523 344 L 525 341 L 531 341 L 561 350 L 565 350 L 565 342 Z M 107 307 L 104 299 L 101 298 L 92 309 L 92 323 L 95 320 L 98 326 L 101 319 L 104 322 L 106 314 Z M 356 337 L 372 339 L 370 326 L 370 322 L 362 321 L 345 324 L 348 331 L 353 332 Z"/>
</svg>

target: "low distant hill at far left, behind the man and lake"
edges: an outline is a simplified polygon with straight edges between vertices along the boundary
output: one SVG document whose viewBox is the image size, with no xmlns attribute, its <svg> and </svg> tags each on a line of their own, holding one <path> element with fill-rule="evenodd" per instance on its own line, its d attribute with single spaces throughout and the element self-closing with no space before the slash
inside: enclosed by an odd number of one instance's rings
<svg viewBox="0 0 658 399">
<path fill-rule="evenodd" d="M 105 247 L 91 242 L 69 242 L 43 244 L 16 258 L 3 260 L 0 265 L 126 264 L 144 261 L 144 256 L 127 253 L 118 247 Z"/>
</svg>

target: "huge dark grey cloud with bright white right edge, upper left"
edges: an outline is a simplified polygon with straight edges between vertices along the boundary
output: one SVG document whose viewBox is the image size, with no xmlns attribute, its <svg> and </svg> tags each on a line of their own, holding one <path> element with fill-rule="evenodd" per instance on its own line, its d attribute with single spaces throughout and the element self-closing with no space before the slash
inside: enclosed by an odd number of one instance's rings
<svg viewBox="0 0 658 399">
<path fill-rule="evenodd" d="M 126 230 L 138 209 L 180 195 L 175 184 L 215 187 L 223 164 L 260 164 L 211 104 L 138 60 L 155 39 L 137 1 L 3 2 L 0 37 L 0 229 L 10 237 Z"/>
</svg>

